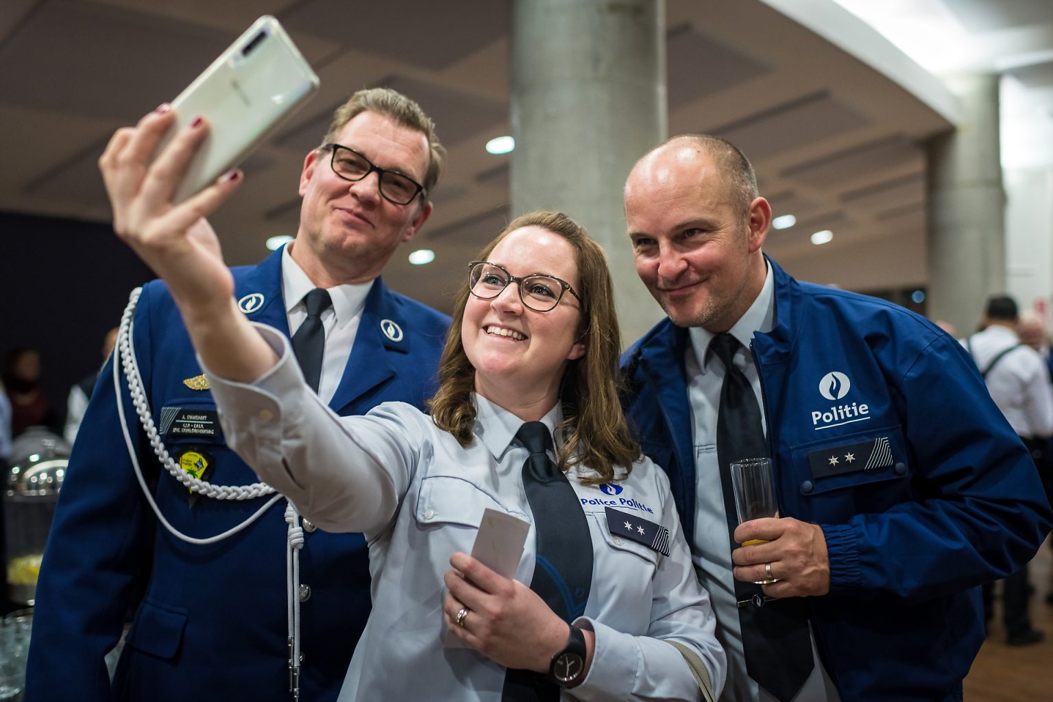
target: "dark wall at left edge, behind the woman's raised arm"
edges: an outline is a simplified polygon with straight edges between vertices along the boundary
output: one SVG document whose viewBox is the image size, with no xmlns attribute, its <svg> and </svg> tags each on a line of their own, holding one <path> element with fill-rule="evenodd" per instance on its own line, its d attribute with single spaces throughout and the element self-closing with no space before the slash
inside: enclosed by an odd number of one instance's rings
<svg viewBox="0 0 1053 702">
<path fill-rule="evenodd" d="M 128 293 L 153 277 L 110 224 L 0 213 L 0 358 L 38 348 L 64 417 L 69 387 L 98 369 Z"/>
</svg>

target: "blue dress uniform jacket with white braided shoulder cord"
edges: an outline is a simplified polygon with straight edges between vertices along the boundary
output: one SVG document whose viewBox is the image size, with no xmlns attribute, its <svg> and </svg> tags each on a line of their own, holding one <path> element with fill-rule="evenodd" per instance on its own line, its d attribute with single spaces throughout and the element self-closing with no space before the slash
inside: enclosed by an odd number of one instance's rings
<svg viewBox="0 0 1053 702">
<path fill-rule="evenodd" d="M 235 268 L 234 276 L 242 310 L 252 310 L 247 317 L 287 335 L 281 252 L 257 266 Z M 177 462 L 188 453 L 211 464 L 204 479 L 215 484 L 257 482 L 220 432 L 178 428 L 180 413 L 208 417 L 215 403 L 192 381 L 202 370 L 160 281 L 143 287 L 134 324 L 144 390 L 170 454 Z M 448 317 L 388 290 L 378 279 L 331 408 L 363 414 L 385 401 L 423 407 L 435 388 L 448 325 Z M 285 500 L 243 531 L 211 545 L 185 543 L 158 525 L 125 447 L 112 365 L 92 396 L 45 549 L 26 700 L 287 702 Z M 191 496 L 160 468 L 123 374 L 121 381 L 140 465 L 161 514 L 176 528 L 212 537 L 271 499 Z M 167 428 L 164 416 L 175 417 Z M 335 700 L 370 613 L 365 541 L 358 534 L 306 533 L 299 567 L 300 582 L 310 588 L 301 598 L 300 699 Z M 120 638 L 135 593 L 143 590 L 111 687 L 103 656 Z"/>
</svg>

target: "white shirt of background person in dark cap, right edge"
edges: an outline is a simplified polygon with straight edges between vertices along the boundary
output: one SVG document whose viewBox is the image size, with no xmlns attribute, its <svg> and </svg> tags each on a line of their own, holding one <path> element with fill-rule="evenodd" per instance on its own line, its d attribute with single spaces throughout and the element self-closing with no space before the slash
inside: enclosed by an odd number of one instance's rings
<svg viewBox="0 0 1053 702">
<path fill-rule="evenodd" d="M 991 324 L 962 342 L 980 370 L 986 370 L 998 354 L 1019 343 L 1016 333 L 1001 324 Z M 1050 376 L 1038 352 L 1027 345 L 1013 348 L 984 380 L 991 399 L 1018 436 L 1041 439 L 1053 434 Z"/>
</svg>

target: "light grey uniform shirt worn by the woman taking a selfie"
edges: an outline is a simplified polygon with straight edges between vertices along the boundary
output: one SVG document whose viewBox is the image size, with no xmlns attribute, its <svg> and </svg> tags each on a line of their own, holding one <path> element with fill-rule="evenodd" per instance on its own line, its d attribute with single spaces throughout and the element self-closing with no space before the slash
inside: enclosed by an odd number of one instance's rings
<svg viewBox="0 0 1053 702">
<path fill-rule="evenodd" d="M 476 440 L 465 448 L 404 403 L 337 417 L 303 384 L 289 341 L 257 328 L 281 357 L 274 368 L 253 385 L 208 374 L 230 445 L 315 524 L 362 531 L 370 543 L 373 611 L 340 700 L 498 702 L 504 668 L 443 645 L 442 579 L 454 551 L 471 553 L 486 507 L 533 521 L 521 479 L 528 450 L 514 442 L 522 421 L 476 396 Z M 557 405 L 542 421 L 551 430 L 561 419 Z M 668 478 L 645 458 L 603 489 L 578 482 L 591 473 L 578 466 L 568 477 L 594 554 L 577 623 L 595 631 L 596 647 L 584 681 L 562 699 L 696 699 L 690 668 L 662 639 L 696 651 L 719 690 L 724 656 Z M 608 505 L 668 528 L 670 556 L 612 534 Z M 535 543 L 532 524 L 515 575 L 528 584 Z"/>
</svg>

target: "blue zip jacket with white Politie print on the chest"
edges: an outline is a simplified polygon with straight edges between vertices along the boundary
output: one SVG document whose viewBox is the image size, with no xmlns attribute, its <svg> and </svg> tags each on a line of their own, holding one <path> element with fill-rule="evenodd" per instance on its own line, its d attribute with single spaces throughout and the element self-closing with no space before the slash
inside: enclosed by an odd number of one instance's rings
<svg viewBox="0 0 1053 702">
<path fill-rule="evenodd" d="M 985 636 L 976 585 L 1027 563 L 1049 531 L 1034 463 L 954 339 L 769 263 L 776 324 L 751 349 L 780 514 L 827 539 L 830 593 L 806 600 L 822 663 L 846 702 L 960 700 Z M 665 319 L 622 367 L 627 412 L 690 540 L 689 344 Z"/>
</svg>

